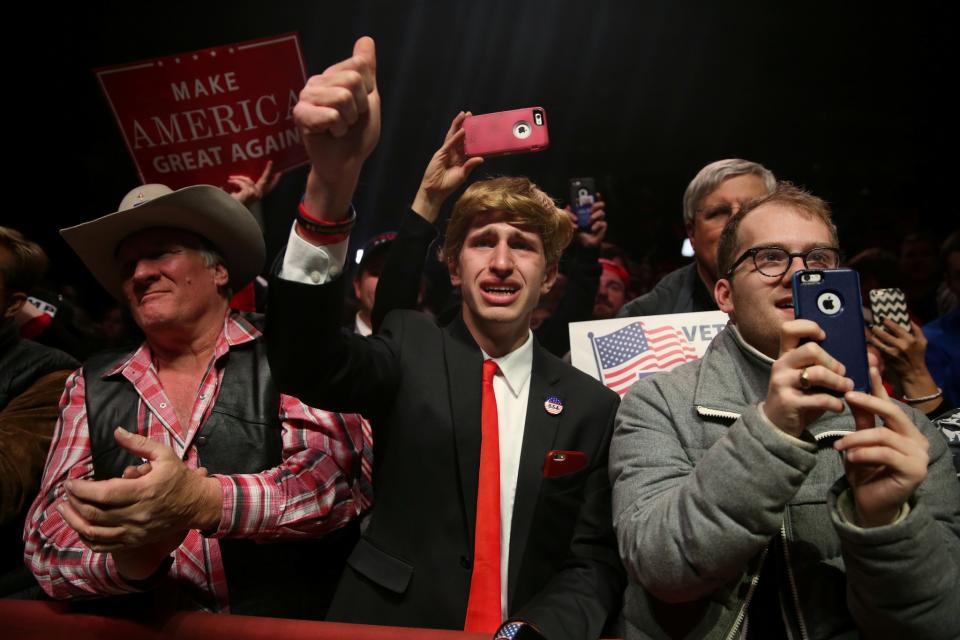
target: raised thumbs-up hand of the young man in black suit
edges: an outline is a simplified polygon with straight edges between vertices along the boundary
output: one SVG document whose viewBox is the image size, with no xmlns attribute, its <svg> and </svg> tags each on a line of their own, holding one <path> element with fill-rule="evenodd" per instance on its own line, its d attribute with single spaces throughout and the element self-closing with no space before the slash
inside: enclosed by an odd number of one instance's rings
<svg viewBox="0 0 960 640">
<path fill-rule="evenodd" d="M 373 38 L 358 39 L 352 57 L 312 76 L 300 92 L 293 117 L 310 158 L 304 206 L 318 220 L 340 220 L 350 206 L 363 162 L 380 138 Z"/>
</svg>

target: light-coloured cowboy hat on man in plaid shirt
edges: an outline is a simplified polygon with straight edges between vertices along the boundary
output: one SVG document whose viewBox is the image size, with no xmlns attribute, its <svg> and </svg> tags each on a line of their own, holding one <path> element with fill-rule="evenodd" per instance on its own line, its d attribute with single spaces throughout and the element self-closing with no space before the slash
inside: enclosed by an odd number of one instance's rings
<svg viewBox="0 0 960 640">
<path fill-rule="evenodd" d="M 128 193 L 115 213 L 61 229 L 60 235 L 100 284 L 123 299 L 117 248 L 130 234 L 151 227 L 183 229 L 210 242 L 226 262 L 234 291 L 263 267 L 266 248 L 257 221 L 246 207 L 209 185 L 173 191 L 162 184 L 145 184 Z"/>
</svg>

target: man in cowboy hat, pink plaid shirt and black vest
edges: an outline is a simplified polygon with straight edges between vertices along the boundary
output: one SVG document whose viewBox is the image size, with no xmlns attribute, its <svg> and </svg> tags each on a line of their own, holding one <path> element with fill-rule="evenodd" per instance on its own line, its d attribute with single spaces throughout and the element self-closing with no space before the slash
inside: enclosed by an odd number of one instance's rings
<svg viewBox="0 0 960 640">
<path fill-rule="evenodd" d="M 146 340 L 67 380 L 25 531 L 41 587 L 322 616 L 355 527 L 316 538 L 369 504 L 369 431 L 278 393 L 260 318 L 228 308 L 263 263 L 253 217 L 214 187 L 144 185 L 62 234 Z M 279 538 L 308 540 L 257 544 Z"/>
</svg>

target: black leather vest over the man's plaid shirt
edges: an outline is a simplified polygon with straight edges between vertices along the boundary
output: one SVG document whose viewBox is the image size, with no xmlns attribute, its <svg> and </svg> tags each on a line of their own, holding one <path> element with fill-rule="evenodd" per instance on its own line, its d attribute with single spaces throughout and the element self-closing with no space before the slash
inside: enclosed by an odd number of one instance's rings
<svg viewBox="0 0 960 640">
<path fill-rule="evenodd" d="M 255 324 L 259 318 L 249 317 Z M 137 428 L 140 396 L 122 374 L 103 377 L 117 352 L 84 363 L 87 420 L 94 476 L 119 477 L 141 459 L 117 446 L 113 430 Z M 273 385 L 262 339 L 231 347 L 217 400 L 191 446 L 211 474 L 257 473 L 278 466 L 283 443 L 280 394 Z M 146 435 L 146 434 L 141 434 Z M 322 539 L 257 543 L 220 539 L 230 612 L 322 619 L 359 538 L 359 521 Z M 210 606 L 210 603 L 204 603 Z"/>
</svg>

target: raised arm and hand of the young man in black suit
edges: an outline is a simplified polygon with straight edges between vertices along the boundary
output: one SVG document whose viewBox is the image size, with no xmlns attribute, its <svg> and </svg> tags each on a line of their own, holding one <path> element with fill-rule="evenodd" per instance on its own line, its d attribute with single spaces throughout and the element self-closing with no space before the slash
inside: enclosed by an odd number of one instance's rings
<svg viewBox="0 0 960 640">
<path fill-rule="evenodd" d="M 311 406 L 373 416 L 397 382 L 393 347 L 340 331 L 350 200 L 380 135 L 373 40 L 313 76 L 294 118 L 310 175 L 279 277 L 270 285 L 266 332 L 278 388 Z M 360 383 L 362 381 L 362 384 Z"/>
</svg>

